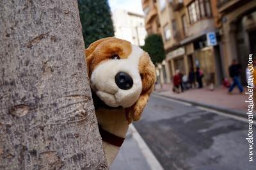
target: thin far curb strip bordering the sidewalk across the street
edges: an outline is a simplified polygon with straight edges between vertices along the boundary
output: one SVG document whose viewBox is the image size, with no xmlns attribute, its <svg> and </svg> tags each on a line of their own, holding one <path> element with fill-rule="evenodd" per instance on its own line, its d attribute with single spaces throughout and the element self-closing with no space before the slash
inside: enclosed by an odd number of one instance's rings
<svg viewBox="0 0 256 170">
<path fill-rule="evenodd" d="M 189 104 L 195 105 L 195 106 L 205 107 L 207 109 L 213 109 L 213 110 L 216 110 L 216 111 L 225 112 L 227 114 L 232 114 L 232 115 L 236 115 L 236 116 L 248 119 L 248 116 L 247 116 L 246 112 L 234 111 L 234 110 L 231 110 L 231 109 L 224 109 L 222 107 L 216 107 L 215 105 L 202 104 L 202 103 L 194 102 L 194 101 L 191 101 L 191 100 L 186 100 L 186 99 L 180 99 L 180 98 L 176 98 L 176 97 L 170 97 L 170 96 L 166 96 L 166 95 L 161 95 L 161 94 L 159 94 L 157 92 L 153 92 L 152 94 L 158 95 L 160 97 L 171 98 L 173 100 L 178 100 L 180 102 L 186 102 L 186 103 L 189 103 Z M 255 118 L 253 118 L 253 120 L 255 120 Z"/>
</svg>

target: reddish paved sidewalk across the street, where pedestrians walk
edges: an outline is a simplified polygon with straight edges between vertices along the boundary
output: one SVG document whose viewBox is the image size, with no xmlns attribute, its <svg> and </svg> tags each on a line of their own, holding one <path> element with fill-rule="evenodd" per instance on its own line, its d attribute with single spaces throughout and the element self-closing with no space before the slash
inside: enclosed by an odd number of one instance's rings
<svg viewBox="0 0 256 170">
<path fill-rule="evenodd" d="M 244 89 L 245 90 L 245 89 Z M 174 93 L 171 84 L 163 84 L 163 89 L 159 84 L 156 84 L 154 93 L 171 97 L 186 102 L 194 102 L 196 104 L 209 105 L 216 109 L 227 109 L 228 111 L 240 112 L 245 115 L 247 105 L 244 102 L 247 95 L 239 94 L 237 88 L 232 92 L 232 95 L 227 93 L 228 89 L 220 86 L 210 91 L 208 88 L 203 89 L 188 89 L 183 93 Z"/>
</svg>

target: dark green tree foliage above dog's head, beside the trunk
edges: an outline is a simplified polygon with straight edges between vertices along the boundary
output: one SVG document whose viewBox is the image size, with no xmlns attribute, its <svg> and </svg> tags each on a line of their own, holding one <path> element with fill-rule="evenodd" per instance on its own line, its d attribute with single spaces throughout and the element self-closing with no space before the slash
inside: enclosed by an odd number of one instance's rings
<svg viewBox="0 0 256 170">
<path fill-rule="evenodd" d="M 85 47 L 100 38 L 114 36 L 107 0 L 79 0 L 78 7 Z"/>
</svg>

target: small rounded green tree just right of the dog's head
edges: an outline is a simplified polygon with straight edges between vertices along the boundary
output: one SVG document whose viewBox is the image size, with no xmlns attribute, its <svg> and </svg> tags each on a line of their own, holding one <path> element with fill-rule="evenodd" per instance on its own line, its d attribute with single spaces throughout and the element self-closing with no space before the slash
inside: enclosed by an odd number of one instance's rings
<svg viewBox="0 0 256 170">
<path fill-rule="evenodd" d="M 148 35 L 145 38 L 145 45 L 142 49 L 148 52 L 154 65 L 161 63 L 165 58 L 164 44 L 161 35 Z"/>
</svg>

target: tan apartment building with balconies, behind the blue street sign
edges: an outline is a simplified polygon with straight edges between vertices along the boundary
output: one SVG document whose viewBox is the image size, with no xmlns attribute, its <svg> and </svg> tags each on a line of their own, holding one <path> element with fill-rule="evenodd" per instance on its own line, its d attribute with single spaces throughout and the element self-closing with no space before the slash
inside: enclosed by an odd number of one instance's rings
<svg viewBox="0 0 256 170">
<path fill-rule="evenodd" d="M 157 0 L 161 33 L 166 51 L 166 72 L 200 67 L 204 81 L 220 84 L 223 77 L 216 0 Z M 169 77 L 167 77 L 169 78 Z"/>
</svg>

